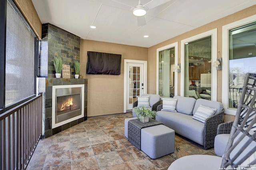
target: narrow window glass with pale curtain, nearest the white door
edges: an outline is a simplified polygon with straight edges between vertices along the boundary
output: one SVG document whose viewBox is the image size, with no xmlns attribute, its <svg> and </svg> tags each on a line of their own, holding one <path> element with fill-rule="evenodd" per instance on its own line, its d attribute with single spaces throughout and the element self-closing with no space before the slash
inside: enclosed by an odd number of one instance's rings
<svg viewBox="0 0 256 170">
<path fill-rule="evenodd" d="M 169 48 L 159 52 L 158 94 L 163 97 L 174 96 L 174 49 Z"/>
</svg>

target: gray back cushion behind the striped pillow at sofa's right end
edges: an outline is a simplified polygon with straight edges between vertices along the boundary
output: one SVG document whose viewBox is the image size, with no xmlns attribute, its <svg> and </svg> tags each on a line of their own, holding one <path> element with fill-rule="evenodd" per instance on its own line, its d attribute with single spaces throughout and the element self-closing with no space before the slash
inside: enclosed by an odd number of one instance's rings
<svg viewBox="0 0 256 170">
<path fill-rule="evenodd" d="M 196 113 L 196 110 L 200 106 L 200 104 L 209 108 L 217 109 L 215 114 L 223 110 L 223 104 L 221 102 L 215 102 L 215 101 L 199 98 L 198 100 L 196 100 L 196 104 L 193 110 L 193 115 Z"/>
</svg>

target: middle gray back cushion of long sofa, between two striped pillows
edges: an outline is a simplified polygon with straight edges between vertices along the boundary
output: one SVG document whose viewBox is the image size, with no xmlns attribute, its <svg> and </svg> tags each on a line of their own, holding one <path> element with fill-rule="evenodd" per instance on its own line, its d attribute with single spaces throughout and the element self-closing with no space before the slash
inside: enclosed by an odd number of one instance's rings
<svg viewBox="0 0 256 170">
<path fill-rule="evenodd" d="M 193 108 L 195 106 L 196 99 L 190 98 L 190 97 L 182 97 L 182 96 L 174 96 L 173 98 L 178 99 L 176 104 L 177 112 L 188 114 L 188 115 L 193 114 Z"/>
</svg>

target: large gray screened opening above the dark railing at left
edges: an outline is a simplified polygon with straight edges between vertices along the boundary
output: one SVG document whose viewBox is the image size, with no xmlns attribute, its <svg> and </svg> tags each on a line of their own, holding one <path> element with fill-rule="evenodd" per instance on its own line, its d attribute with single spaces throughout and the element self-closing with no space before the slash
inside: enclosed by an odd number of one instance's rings
<svg viewBox="0 0 256 170">
<path fill-rule="evenodd" d="M 4 6 L 6 28 L 1 27 L 1 37 L 6 46 L 1 46 L 1 60 L 5 60 L 1 73 L 1 113 L 36 93 L 36 72 L 39 58 L 38 39 L 11 0 Z M 4 48 L 4 49 L 3 49 Z M 4 76 L 5 75 L 5 76 Z"/>
</svg>

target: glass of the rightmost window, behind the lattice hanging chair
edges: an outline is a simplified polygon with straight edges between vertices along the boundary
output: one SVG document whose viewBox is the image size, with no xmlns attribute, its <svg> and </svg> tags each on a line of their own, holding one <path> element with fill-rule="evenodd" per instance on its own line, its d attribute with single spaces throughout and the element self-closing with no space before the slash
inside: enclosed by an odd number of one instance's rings
<svg viewBox="0 0 256 170">
<path fill-rule="evenodd" d="M 238 106 L 245 74 L 256 73 L 255 37 L 256 22 L 229 30 L 229 108 Z"/>
</svg>

